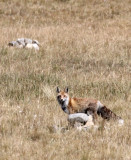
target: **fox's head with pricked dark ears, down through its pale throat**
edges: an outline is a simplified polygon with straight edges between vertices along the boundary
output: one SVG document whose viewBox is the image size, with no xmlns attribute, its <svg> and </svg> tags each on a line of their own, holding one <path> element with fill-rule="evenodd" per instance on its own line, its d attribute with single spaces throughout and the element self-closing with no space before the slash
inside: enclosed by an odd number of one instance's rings
<svg viewBox="0 0 131 160">
<path fill-rule="evenodd" d="M 69 94 L 68 94 L 68 87 L 64 90 L 61 91 L 59 87 L 56 89 L 57 92 L 57 101 L 60 104 L 62 110 L 69 114 L 68 110 L 68 104 L 69 104 Z"/>
</svg>

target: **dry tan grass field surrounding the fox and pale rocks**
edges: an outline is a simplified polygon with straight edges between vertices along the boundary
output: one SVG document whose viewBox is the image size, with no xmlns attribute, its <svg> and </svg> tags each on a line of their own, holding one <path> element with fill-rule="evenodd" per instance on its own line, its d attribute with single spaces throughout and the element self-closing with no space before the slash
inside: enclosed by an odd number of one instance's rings
<svg viewBox="0 0 131 160">
<path fill-rule="evenodd" d="M 129 0 L 0 0 L 0 160 L 131 159 L 130 11 Z M 7 47 L 19 37 L 40 52 Z M 56 86 L 100 99 L 125 125 L 54 133 L 67 126 Z"/>
</svg>

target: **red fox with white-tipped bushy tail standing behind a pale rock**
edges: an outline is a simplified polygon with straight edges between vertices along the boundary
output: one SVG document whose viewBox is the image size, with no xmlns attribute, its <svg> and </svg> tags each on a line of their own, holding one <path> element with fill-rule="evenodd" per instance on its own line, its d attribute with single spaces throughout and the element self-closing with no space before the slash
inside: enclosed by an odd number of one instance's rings
<svg viewBox="0 0 131 160">
<path fill-rule="evenodd" d="M 123 125 L 124 120 L 116 115 L 113 111 L 103 105 L 99 100 L 90 98 L 71 98 L 68 94 L 68 87 L 64 90 L 56 89 L 57 101 L 61 106 L 61 109 L 68 115 L 74 113 L 85 113 L 92 115 L 94 123 L 97 121 L 97 117 L 100 116 L 104 120 L 118 120 L 118 123 Z"/>
</svg>

